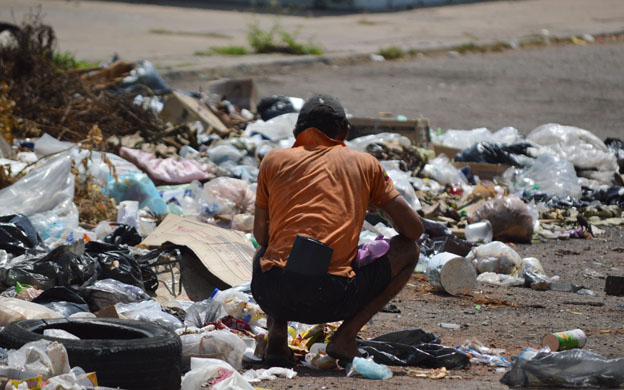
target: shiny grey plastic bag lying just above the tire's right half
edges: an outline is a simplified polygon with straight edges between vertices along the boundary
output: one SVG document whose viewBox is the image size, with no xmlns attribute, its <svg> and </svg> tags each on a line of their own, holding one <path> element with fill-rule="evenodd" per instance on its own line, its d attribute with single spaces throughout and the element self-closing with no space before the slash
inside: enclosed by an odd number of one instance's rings
<svg viewBox="0 0 624 390">
<path fill-rule="evenodd" d="M 92 286 L 83 288 L 80 293 L 94 311 L 120 302 L 142 302 L 151 299 L 141 288 L 115 279 L 98 280 Z"/>
</svg>

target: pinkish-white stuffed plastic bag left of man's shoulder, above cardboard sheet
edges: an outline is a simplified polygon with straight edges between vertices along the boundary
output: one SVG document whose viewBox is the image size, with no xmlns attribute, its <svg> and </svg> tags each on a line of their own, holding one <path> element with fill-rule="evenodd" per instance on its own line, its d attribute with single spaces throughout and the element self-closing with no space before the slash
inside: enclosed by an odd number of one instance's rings
<svg viewBox="0 0 624 390">
<path fill-rule="evenodd" d="M 244 180 L 218 177 L 204 184 L 201 199 L 209 214 L 253 214 L 256 194 Z"/>
</svg>

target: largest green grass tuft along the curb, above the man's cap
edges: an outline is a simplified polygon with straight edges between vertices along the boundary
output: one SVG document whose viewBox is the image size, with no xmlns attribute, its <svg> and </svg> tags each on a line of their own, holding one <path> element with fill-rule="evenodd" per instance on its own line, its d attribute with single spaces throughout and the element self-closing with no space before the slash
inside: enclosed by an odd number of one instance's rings
<svg viewBox="0 0 624 390">
<path fill-rule="evenodd" d="M 323 49 L 312 41 L 300 42 L 298 32 L 290 33 L 275 23 L 270 29 L 262 29 L 258 23 L 248 26 L 247 41 L 256 53 L 286 53 L 321 55 Z"/>
</svg>

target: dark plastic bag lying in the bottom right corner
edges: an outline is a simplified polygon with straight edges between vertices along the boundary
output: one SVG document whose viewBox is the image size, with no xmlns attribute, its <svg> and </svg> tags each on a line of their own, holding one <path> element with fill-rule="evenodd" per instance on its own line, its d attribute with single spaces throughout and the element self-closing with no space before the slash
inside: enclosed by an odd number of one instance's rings
<svg viewBox="0 0 624 390">
<path fill-rule="evenodd" d="M 606 359 L 584 349 L 550 352 L 540 350 L 536 355 L 526 351 L 513 357 L 511 370 L 501 383 L 509 387 L 594 387 L 619 388 L 624 383 L 624 358 Z"/>
</svg>

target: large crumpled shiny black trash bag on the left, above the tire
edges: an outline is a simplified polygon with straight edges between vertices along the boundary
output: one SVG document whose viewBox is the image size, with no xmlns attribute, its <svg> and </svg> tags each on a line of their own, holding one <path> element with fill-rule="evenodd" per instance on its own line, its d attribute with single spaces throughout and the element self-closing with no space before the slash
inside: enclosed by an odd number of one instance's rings
<svg viewBox="0 0 624 390">
<path fill-rule="evenodd" d="M 79 240 L 61 245 L 40 259 L 19 263 L 7 271 L 6 283 L 20 282 L 41 290 L 54 286 L 80 288 L 93 284 L 100 272 L 99 263 L 85 255 L 85 244 Z"/>
</svg>

